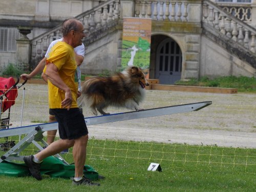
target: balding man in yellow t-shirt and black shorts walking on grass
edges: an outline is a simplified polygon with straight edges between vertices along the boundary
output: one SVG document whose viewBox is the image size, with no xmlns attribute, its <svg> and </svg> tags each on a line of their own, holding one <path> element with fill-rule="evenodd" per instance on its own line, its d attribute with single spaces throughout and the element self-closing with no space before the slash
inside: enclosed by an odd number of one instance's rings
<svg viewBox="0 0 256 192">
<path fill-rule="evenodd" d="M 63 22 L 63 40 L 52 47 L 47 59 L 45 74 L 48 78 L 49 109 L 58 121 L 60 139 L 34 156 L 24 157 L 31 175 L 37 180 L 42 179 L 40 163 L 43 159 L 73 146 L 75 177 L 72 183 L 74 185 L 100 185 L 91 182 L 83 175 L 88 130 L 83 114 L 76 103 L 75 72 L 77 66 L 74 55 L 74 48 L 82 44 L 83 31 L 83 25 L 76 19 Z"/>
</svg>

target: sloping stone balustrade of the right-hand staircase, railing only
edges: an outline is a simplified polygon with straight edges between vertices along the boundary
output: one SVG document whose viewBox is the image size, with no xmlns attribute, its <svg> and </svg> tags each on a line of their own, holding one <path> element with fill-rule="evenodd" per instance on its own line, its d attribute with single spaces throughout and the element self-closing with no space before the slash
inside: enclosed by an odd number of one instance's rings
<svg viewBox="0 0 256 192">
<path fill-rule="evenodd" d="M 202 20 L 204 24 L 255 53 L 256 29 L 237 18 L 236 15 L 224 11 L 209 0 L 204 0 Z"/>
</svg>

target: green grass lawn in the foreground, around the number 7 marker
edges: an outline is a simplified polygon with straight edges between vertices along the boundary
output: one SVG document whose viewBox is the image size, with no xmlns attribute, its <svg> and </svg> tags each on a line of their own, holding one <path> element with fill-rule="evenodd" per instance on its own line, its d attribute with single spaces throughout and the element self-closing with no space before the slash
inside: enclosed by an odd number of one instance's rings
<svg viewBox="0 0 256 192">
<path fill-rule="evenodd" d="M 22 155 L 34 154 L 28 147 Z M 71 151 L 70 151 L 71 152 Z M 2 154 L 3 152 L 1 152 Z M 72 186 L 71 180 L 0 176 L 4 191 L 255 191 L 254 149 L 91 139 L 87 164 L 101 186 Z M 62 155 L 72 163 L 72 154 Z M 151 162 L 162 172 L 147 171 Z"/>
</svg>

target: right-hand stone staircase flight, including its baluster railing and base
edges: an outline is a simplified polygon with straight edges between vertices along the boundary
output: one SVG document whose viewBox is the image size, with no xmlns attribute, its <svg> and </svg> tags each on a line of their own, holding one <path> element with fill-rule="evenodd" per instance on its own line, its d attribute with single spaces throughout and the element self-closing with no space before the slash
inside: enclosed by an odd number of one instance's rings
<svg viewBox="0 0 256 192">
<path fill-rule="evenodd" d="M 255 76 L 256 29 L 208 0 L 203 3 L 202 35 L 244 61 L 240 67 Z"/>
</svg>

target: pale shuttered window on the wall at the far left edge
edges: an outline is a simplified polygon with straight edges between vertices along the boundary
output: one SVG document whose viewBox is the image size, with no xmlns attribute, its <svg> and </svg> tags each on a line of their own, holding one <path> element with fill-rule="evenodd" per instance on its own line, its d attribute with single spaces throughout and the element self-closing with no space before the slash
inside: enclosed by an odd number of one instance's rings
<svg viewBox="0 0 256 192">
<path fill-rule="evenodd" d="M 16 28 L 2 28 L 0 27 L 0 51 L 15 52 L 16 39 L 20 36 Z"/>
</svg>

